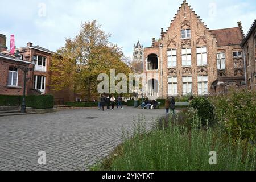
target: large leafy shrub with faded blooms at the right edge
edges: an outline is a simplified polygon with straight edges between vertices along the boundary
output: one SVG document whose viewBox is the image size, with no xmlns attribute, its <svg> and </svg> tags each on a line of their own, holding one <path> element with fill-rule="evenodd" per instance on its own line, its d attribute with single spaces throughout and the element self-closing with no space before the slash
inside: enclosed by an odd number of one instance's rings
<svg viewBox="0 0 256 182">
<path fill-rule="evenodd" d="M 256 92 L 246 89 L 233 90 L 224 96 L 210 97 L 218 120 L 226 135 L 234 140 L 241 138 L 256 142 Z"/>
</svg>

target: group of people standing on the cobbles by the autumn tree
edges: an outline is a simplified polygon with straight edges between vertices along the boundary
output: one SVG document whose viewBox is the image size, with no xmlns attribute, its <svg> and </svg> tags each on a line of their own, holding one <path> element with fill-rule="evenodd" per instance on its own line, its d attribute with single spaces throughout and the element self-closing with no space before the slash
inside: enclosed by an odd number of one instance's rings
<svg viewBox="0 0 256 182">
<path fill-rule="evenodd" d="M 111 106 L 112 110 L 114 110 L 115 101 L 117 101 L 117 109 L 119 109 L 119 107 L 121 107 L 121 109 L 123 109 L 121 95 L 119 95 L 117 97 L 117 99 L 115 99 L 115 97 L 113 95 L 101 94 L 98 97 L 98 110 L 102 109 L 104 111 L 105 106 L 106 106 L 107 110 L 110 110 L 110 106 Z"/>
</svg>

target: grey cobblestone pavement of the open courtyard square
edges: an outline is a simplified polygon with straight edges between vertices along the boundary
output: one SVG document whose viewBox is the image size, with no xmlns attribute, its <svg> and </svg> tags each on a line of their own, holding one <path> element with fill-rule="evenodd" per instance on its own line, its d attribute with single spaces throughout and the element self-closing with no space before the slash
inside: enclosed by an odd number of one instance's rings
<svg viewBox="0 0 256 182">
<path fill-rule="evenodd" d="M 123 131 L 133 131 L 134 117 L 164 115 L 164 110 L 65 109 L 55 113 L 0 118 L 1 170 L 87 170 L 122 143 Z M 90 118 L 88 118 L 90 117 Z M 38 152 L 46 152 L 46 165 Z"/>
</svg>

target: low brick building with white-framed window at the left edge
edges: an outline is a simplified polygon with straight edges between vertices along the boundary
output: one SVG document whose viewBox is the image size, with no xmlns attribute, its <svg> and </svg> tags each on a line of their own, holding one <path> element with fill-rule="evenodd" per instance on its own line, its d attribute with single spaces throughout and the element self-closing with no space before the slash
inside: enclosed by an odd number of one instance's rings
<svg viewBox="0 0 256 182">
<path fill-rule="evenodd" d="M 0 53 L 0 94 L 3 95 L 22 95 L 24 84 L 24 72 L 18 66 L 32 67 L 30 62 L 15 61 L 14 57 Z M 27 85 L 28 88 L 28 85 Z M 26 94 L 27 89 L 26 88 Z"/>
</svg>

